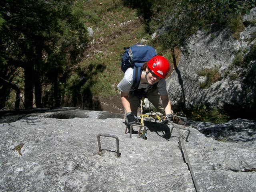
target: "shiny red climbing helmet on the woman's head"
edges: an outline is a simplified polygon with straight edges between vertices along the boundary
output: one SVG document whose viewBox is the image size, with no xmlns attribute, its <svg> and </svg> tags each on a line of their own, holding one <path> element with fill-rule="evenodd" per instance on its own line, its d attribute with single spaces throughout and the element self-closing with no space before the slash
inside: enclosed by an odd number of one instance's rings
<svg viewBox="0 0 256 192">
<path fill-rule="evenodd" d="M 170 64 L 163 56 L 156 55 L 148 61 L 148 68 L 160 78 L 165 78 L 170 69 Z"/>
</svg>

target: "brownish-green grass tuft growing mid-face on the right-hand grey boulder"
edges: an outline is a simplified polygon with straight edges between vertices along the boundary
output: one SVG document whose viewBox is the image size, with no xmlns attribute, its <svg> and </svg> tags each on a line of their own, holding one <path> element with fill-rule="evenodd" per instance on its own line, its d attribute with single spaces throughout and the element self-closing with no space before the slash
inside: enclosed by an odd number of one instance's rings
<svg viewBox="0 0 256 192">
<path fill-rule="evenodd" d="M 217 82 L 218 80 L 221 80 L 221 76 L 220 76 L 218 68 L 203 69 L 198 72 L 198 75 L 207 77 L 206 82 L 199 84 L 199 87 L 203 88 L 203 89 L 207 89 L 213 83 Z"/>
</svg>

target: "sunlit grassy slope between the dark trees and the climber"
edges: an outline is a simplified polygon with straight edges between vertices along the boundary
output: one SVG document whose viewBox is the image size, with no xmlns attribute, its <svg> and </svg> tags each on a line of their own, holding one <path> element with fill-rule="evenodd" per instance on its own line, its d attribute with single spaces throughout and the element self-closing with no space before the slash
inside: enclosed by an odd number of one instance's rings
<svg viewBox="0 0 256 192">
<path fill-rule="evenodd" d="M 135 10 L 124 7 L 121 0 L 88 1 L 84 4 L 84 11 L 84 24 L 94 33 L 80 67 L 85 70 L 104 68 L 93 78 L 90 91 L 94 96 L 117 95 L 116 86 L 124 75 L 120 69 L 120 54 L 124 47 L 147 36 L 144 24 Z"/>
</svg>

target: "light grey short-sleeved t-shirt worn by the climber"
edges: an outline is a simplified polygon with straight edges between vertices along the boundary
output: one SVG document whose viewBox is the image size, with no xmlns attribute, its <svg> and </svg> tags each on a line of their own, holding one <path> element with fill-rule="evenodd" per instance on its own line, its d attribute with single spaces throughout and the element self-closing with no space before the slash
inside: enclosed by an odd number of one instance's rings
<svg viewBox="0 0 256 192">
<path fill-rule="evenodd" d="M 142 72 L 142 74 L 145 73 L 145 71 Z M 118 83 L 117 88 L 124 92 L 129 93 L 132 89 L 132 75 L 133 75 L 133 68 L 128 68 L 124 74 L 124 78 Z M 141 88 L 147 88 L 150 86 L 150 84 L 141 84 L 139 85 L 138 89 Z M 160 95 L 166 95 L 166 81 L 164 78 L 160 79 L 160 81 L 157 84 L 158 92 Z"/>
</svg>

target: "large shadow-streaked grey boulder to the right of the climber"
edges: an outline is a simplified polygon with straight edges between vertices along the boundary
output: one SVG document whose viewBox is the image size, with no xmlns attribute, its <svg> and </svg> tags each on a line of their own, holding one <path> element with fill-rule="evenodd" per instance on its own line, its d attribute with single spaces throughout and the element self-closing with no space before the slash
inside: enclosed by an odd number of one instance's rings
<svg viewBox="0 0 256 192">
<path fill-rule="evenodd" d="M 180 62 L 167 79 L 174 111 L 208 103 L 224 109 L 234 118 L 255 119 L 256 109 L 256 8 L 243 18 L 240 38 L 228 28 L 206 33 L 198 30 L 182 48 Z M 254 23 L 254 24 L 253 24 Z M 234 62 L 244 62 L 242 66 Z M 219 78 L 204 88 L 202 70 L 217 70 Z M 217 74 L 217 73 L 216 73 Z"/>
</svg>

